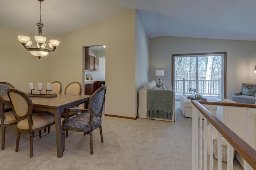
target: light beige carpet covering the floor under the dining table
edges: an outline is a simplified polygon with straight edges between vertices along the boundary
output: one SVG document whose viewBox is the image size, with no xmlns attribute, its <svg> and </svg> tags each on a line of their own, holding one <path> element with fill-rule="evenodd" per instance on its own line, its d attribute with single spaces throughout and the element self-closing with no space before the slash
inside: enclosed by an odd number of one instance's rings
<svg viewBox="0 0 256 170">
<path fill-rule="evenodd" d="M 5 149 L 0 150 L 0 169 L 190 170 L 192 119 L 182 116 L 179 101 L 175 111 L 176 122 L 103 115 L 104 143 L 99 130 L 94 130 L 94 154 L 90 154 L 88 134 L 69 131 L 62 158 L 56 156 L 54 126 L 50 134 L 42 133 L 42 138 L 35 133 L 32 158 L 28 133 L 21 134 L 19 151 L 15 152 L 16 127 L 7 127 Z"/>
</svg>

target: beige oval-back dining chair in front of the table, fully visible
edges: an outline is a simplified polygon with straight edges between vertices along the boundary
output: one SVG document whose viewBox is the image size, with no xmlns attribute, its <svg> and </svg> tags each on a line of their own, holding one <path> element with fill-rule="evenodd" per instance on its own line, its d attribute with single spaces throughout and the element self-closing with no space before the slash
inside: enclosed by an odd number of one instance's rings
<svg viewBox="0 0 256 170">
<path fill-rule="evenodd" d="M 18 89 L 7 89 L 7 93 L 17 120 L 16 152 L 19 150 L 20 132 L 29 132 L 31 158 L 33 156 L 33 132 L 54 125 L 54 115 L 47 113 L 33 114 L 33 103 L 30 97 Z"/>
</svg>

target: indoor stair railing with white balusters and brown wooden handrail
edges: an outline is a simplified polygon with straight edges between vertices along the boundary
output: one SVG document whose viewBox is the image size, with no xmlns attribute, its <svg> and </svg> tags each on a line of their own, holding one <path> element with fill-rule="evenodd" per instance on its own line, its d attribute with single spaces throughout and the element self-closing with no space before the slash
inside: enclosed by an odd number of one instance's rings
<svg viewBox="0 0 256 170">
<path fill-rule="evenodd" d="M 244 167 L 246 170 L 251 168 L 256 169 L 256 150 L 252 148 L 249 143 L 249 109 L 255 109 L 256 105 L 251 104 L 240 104 L 240 103 L 221 103 L 221 102 L 208 102 L 208 101 L 196 101 L 192 100 L 193 104 L 193 118 L 192 118 L 192 170 L 206 170 L 207 167 L 210 167 L 210 170 L 214 167 L 213 161 L 213 127 L 218 130 L 218 170 L 222 169 L 222 136 L 227 140 L 227 169 L 233 169 L 233 148 L 244 158 L 247 162 Z M 204 105 L 211 105 L 210 111 L 208 111 Z M 237 134 L 235 134 L 230 128 L 228 128 L 222 121 L 216 119 L 212 115 L 212 105 L 227 106 L 228 110 L 228 126 L 229 118 L 232 116 L 230 113 L 230 107 L 244 107 L 246 108 L 246 117 L 247 122 L 243 122 L 247 126 L 246 133 L 247 141 L 242 140 Z M 218 113 L 217 113 L 218 114 Z M 208 121 L 203 121 L 208 120 Z M 204 124 L 203 124 L 204 122 Z M 207 151 L 208 140 L 207 140 L 207 123 L 210 123 L 210 149 Z M 255 130 L 255 129 L 253 129 Z M 204 133 L 203 133 L 204 132 Z M 256 139 L 255 139 L 256 140 Z M 208 153 L 210 152 L 210 153 Z M 209 160 L 207 160 L 207 155 L 210 155 Z M 204 160 L 204 162 L 202 161 Z M 215 166 L 216 167 L 216 166 Z"/>
</svg>

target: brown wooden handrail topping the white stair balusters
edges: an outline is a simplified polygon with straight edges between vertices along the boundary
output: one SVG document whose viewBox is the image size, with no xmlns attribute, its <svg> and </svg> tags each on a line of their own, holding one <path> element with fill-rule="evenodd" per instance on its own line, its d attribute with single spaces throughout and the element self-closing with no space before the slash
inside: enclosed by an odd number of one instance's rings
<svg viewBox="0 0 256 170">
<path fill-rule="evenodd" d="M 233 146 L 233 148 L 244 158 L 244 160 L 253 168 L 256 169 L 256 150 L 248 143 L 242 140 L 230 128 L 222 123 L 217 117 L 212 115 L 202 104 L 206 105 L 222 105 L 232 107 L 248 107 L 256 108 L 251 104 L 238 104 L 238 103 L 223 103 L 223 102 L 209 102 L 209 101 L 196 101 L 192 100 L 192 104 L 204 115 L 204 117 L 222 134 L 222 136 Z M 240 106 L 241 105 L 241 106 Z"/>
</svg>

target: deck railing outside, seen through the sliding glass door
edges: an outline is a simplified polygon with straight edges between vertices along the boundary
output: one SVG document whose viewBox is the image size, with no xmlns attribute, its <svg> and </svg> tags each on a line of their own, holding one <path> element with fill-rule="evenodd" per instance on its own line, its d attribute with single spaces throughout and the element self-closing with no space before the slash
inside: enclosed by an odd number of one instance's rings
<svg viewBox="0 0 256 170">
<path fill-rule="evenodd" d="M 221 79 L 218 80 L 174 80 L 174 92 L 177 95 L 190 95 L 188 88 L 196 89 L 196 93 L 205 96 L 220 96 Z"/>
</svg>

